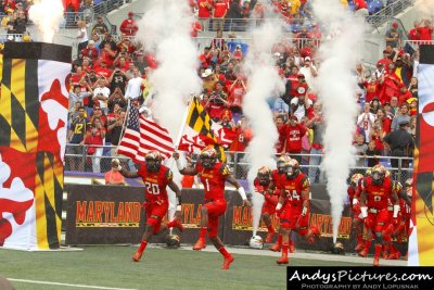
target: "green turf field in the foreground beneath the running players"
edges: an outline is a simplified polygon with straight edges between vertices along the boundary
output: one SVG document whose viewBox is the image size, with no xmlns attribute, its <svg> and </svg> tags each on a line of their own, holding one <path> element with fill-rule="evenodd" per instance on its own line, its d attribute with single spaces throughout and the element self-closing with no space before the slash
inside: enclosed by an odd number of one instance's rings
<svg viewBox="0 0 434 290">
<path fill-rule="evenodd" d="M 22 289 L 285 289 L 285 267 L 276 257 L 235 254 L 231 269 L 221 270 L 219 253 L 146 249 L 139 263 L 133 247 L 85 247 L 79 252 L 0 250 L 0 275 L 44 282 L 12 281 Z M 329 261 L 291 260 L 291 266 L 330 265 Z M 333 262 L 335 266 L 356 266 Z M 77 288 L 77 286 L 82 286 Z"/>
</svg>

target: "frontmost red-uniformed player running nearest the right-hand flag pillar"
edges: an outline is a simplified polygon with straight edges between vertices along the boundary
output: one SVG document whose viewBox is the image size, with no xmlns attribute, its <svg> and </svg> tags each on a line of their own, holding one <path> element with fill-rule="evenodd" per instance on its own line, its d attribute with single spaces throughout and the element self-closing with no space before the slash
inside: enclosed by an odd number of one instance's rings
<svg viewBox="0 0 434 290">
<path fill-rule="evenodd" d="M 383 165 L 372 167 L 371 175 L 363 179 L 360 194 L 360 211 L 365 224 L 372 231 L 375 254 L 373 266 L 380 265 L 380 254 L 382 245 L 385 243 L 384 235 L 386 225 L 390 220 L 390 212 L 387 209 L 388 199 L 393 203 L 393 220 L 396 224 L 399 204 L 393 181 L 386 176 L 386 169 Z M 365 249 L 369 251 L 369 249 Z"/>
</svg>

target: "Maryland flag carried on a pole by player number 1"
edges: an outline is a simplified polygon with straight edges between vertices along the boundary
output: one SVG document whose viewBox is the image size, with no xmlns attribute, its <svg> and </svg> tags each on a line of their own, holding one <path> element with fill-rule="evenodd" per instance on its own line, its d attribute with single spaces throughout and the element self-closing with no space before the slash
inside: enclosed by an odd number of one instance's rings
<svg viewBox="0 0 434 290">
<path fill-rule="evenodd" d="M 201 152 L 206 147 L 214 147 L 218 159 L 226 162 L 225 150 L 214 131 L 213 119 L 196 97 L 190 103 L 189 115 L 178 149 L 188 152 Z"/>
</svg>

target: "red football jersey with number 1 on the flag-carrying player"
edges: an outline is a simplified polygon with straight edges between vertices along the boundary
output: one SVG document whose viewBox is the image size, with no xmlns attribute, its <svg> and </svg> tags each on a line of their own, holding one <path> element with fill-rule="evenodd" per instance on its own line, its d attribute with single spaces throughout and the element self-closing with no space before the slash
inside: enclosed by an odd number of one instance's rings
<svg viewBox="0 0 434 290">
<path fill-rule="evenodd" d="M 216 163 L 210 168 L 205 168 L 202 163 L 197 162 L 195 171 L 204 185 L 205 200 L 225 199 L 226 177 L 230 174 L 226 163 Z"/>
</svg>

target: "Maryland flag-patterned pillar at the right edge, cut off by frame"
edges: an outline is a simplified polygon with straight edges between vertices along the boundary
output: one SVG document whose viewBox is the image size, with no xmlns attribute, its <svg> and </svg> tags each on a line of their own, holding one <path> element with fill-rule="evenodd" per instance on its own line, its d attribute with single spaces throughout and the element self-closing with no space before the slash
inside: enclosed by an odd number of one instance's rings
<svg viewBox="0 0 434 290">
<path fill-rule="evenodd" d="M 434 265 L 434 46 L 420 46 L 418 126 L 408 265 Z M 416 185 L 416 187 L 414 187 Z M 416 188 L 416 190 L 414 190 Z"/>
</svg>

